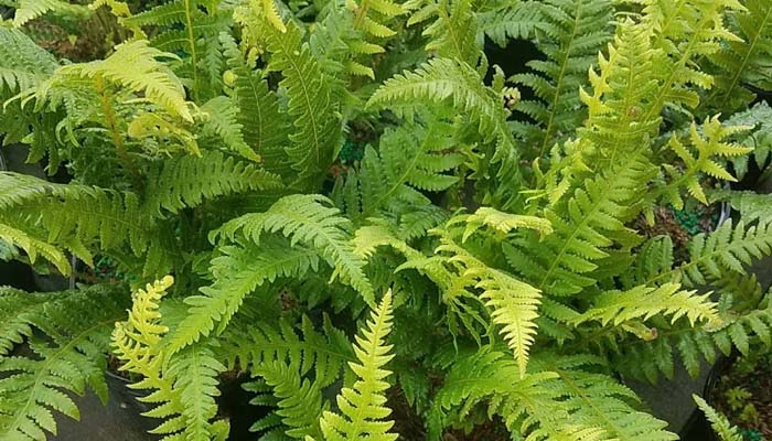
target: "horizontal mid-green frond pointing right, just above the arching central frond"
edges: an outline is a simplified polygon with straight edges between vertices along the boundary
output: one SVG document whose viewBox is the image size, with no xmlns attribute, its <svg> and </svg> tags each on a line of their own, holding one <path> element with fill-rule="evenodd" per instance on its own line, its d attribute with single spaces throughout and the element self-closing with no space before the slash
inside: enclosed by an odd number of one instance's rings
<svg viewBox="0 0 772 441">
<path fill-rule="evenodd" d="M 279 176 L 218 151 L 167 159 L 148 171 L 144 207 L 159 214 L 161 208 L 176 213 L 217 196 L 282 186 Z"/>
</svg>

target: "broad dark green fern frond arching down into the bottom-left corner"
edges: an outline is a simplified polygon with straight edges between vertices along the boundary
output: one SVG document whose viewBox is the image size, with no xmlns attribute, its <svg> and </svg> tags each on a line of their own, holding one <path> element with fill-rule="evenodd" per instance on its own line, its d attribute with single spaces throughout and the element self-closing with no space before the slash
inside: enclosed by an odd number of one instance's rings
<svg viewBox="0 0 772 441">
<path fill-rule="evenodd" d="M 78 419 L 68 394 L 83 395 L 87 385 L 107 400 L 107 335 L 125 298 L 115 287 L 98 286 L 45 294 L 0 291 L 0 314 L 12 314 L 0 325 L 3 354 L 23 338 L 34 354 L 0 356 L 0 372 L 8 374 L 0 379 L 0 438 L 43 441 L 45 431 L 56 434 L 52 411 Z"/>
</svg>

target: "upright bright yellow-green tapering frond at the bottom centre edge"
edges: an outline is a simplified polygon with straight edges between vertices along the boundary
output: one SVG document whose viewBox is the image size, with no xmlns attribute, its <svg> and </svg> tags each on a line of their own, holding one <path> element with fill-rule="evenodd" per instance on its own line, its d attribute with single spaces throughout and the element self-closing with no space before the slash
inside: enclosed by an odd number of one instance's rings
<svg viewBox="0 0 772 441">
<path fill-rule="evenodd" d="M 384 366 L 394 357 L 392 345 L 385 343 L 392 330 L 392 291 L 387 291 L 377 310 L 373 310 L 362 336 L 356 336 L 354 352 L 358 363 L 350 362 L 357 380 L 344 387 L 337 396 L 341 413 L 324 411 L 320 426 L 326 441 L 373 440 L 393 441 L 389 433 L 393 421 L 386 420 L 392 410 L 385 407 L 384 392 L 389 385 L 385 378 L 392 373 Z"/>
</svg>

